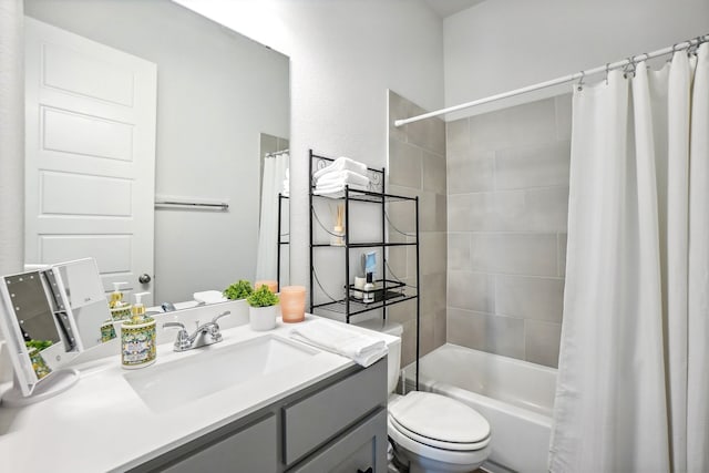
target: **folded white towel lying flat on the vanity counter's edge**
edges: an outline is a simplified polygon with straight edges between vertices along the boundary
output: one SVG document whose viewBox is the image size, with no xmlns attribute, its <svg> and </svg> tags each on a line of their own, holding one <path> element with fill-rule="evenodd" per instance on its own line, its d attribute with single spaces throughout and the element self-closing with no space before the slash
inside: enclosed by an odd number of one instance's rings
<svg viewBox="0 0 709 473">
<path fill-rule="evenodd" d="M 329 320 L 312 320 L 290 331 L 290 338 L 347 357 L 369 367 L 389 352 L 383 339 L 370 337 L 346 325 Z"/>
</svg>

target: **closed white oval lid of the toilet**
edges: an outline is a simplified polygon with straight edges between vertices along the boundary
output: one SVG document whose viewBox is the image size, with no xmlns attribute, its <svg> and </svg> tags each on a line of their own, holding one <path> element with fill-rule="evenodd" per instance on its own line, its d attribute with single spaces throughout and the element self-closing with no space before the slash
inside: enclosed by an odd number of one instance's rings
<svg viewBox="0 0 709 473">
<path fill-rule="evenodd" d="M 455 399 L 432 392 L 408 393 L 390 407 L 389 414 L 400 429 L 433 441 L 476 444 L 490 436 L 485 418 Z"/>
</svg>

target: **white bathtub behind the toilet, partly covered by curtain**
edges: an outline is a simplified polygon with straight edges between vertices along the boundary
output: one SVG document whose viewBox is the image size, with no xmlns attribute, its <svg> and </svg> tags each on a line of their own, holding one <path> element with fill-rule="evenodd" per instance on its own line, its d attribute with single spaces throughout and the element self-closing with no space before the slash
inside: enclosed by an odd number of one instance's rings
<svg viewBox="0 0 709 473">
<path fill-rule="evenodd" d="M 458 399 L 490 422 L 491 472 L 546 472 L 556 370 L 446 343 L 420 360 L 419 388 Z M 415 363 L 405 370 L 409 389 Z"/>
</svg>

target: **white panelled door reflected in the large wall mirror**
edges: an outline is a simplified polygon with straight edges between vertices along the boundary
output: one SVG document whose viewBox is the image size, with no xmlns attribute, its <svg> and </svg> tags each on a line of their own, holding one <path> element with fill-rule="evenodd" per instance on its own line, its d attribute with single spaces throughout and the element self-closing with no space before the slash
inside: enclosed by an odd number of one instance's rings
<svg viewBox="0 0 709 473">
<path fill-rule="evenodd" d="M 93 257 L 106 290 L 152 292 L 156 78 L 25 18 L 25 264 Z"/>
</svg>

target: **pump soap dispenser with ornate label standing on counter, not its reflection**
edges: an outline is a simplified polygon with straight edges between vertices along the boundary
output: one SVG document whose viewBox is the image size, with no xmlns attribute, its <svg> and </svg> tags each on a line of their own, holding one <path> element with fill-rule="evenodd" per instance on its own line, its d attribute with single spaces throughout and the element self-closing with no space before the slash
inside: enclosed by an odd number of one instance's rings
<svg viewBox="0 0 709 473">
<path fill-rule="evenodd" d="M 155 319 L 145 316 L 145 306 L 141 302 L 141 298 L 148 294 L 133 295 L 132 318 L 121 326 L 121 363 L 129 370 L 155 362 Z"/>
</svg>

